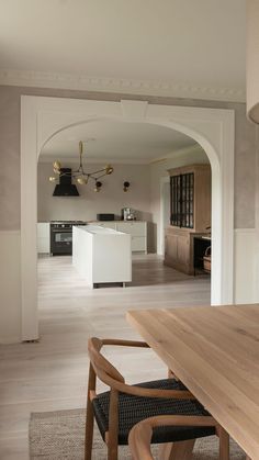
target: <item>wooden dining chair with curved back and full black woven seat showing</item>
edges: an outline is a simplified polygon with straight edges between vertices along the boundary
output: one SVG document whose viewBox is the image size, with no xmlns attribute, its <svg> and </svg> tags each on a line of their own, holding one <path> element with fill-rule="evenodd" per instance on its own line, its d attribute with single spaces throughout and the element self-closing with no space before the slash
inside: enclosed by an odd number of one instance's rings
<svg viewBox="0 0 259 460">
<path fill-rule="evenodd" d="M 108 446 L 108 460 L 117 460 L 117 446 L 127 445 L 128 434 L 138 422 L 158 415 L 203 417 L 204 426 L 160 427 L 153 442 L 177 442 L 215 434 L 215 424 L 206 426 L 210 414 L 174 377 L 136 385 L 125 383 L 122 374 L 101 354 L 103 346 L 144 347 L 144 341 L 90 338 L 85 459 L 91 460 L 94 418 Z M 110 391 L 97 394 L 97 378 Z"/>
</svg>

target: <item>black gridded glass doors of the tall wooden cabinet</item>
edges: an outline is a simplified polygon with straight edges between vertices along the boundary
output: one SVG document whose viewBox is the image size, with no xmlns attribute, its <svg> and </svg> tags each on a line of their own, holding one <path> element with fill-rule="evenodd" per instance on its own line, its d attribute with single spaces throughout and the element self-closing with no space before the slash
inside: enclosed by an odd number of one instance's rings
<svg viewBox="0 0 259 460">
<path fill-rule="evenodd" d="M 170 224 L 193 228 L 194 173 L 188 172 L 170 177 Z"/>
</svg>

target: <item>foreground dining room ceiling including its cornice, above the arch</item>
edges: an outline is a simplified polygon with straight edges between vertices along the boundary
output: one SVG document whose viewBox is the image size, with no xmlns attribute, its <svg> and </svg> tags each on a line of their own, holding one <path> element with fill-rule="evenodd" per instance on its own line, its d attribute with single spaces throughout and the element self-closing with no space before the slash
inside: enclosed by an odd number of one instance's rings
<svg viewBox="0 0 259 460">
<path fill-rule="evenodd" d="M 245 4 L 0 0 L 0 82 L 244 98 Z"/>
</svg>

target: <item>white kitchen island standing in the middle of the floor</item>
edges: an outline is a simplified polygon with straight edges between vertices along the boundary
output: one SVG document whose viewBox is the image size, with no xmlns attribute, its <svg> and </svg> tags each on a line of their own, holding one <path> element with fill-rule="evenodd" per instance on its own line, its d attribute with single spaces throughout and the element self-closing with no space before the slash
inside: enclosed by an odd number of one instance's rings
<svg viewBox="0 0 259 460">
<path fill-rule="evenodd" d="M 87 284 L 132 281 L 131 235 L 98 225 L 72 227 L 72 265 Z"/>
</svg>

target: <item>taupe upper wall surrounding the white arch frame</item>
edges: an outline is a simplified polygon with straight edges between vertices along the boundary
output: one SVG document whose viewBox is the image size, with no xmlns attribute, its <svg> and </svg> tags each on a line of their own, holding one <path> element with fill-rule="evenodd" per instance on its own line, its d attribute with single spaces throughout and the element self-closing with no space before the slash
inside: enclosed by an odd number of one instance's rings
<svg viewBox="0 0 259 460">
<path fill-rule="evenodd" d="M 256 222 L 257 137 L 256 126 L 246 119 L 243 103 L 203 101 L 149 96 L 116 94 L 42 88 L 0 87 L 0 229 L 19 229 L 20 206 L 20 97 L 44 96 L 121 101 L 145 100 L 150 104 L 234 109 L 235 139 L 235 227 L 252 228 Z"/>
</svg>

